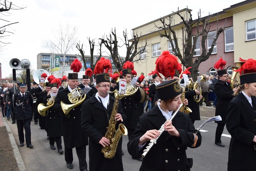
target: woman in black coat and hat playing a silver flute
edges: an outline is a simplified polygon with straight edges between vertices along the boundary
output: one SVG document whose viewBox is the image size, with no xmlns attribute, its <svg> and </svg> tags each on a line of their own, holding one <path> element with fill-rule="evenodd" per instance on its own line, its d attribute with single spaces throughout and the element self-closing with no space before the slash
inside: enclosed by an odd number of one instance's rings
<svg viewBox="0 0 256 171">
<path fill-rule="evenodd" d="M 177 112 L 171 121 L 167 121 L 181 104 L 181 89 L 177 80 L 166 81 L 156 86 L 160 100 L 148 113 L 140 117 L 136 130 L 128 142 L 128 152 L 140 157 L 150 140 L 157 143 L 142 160 L 140 171 L 189 171 L 193 161 L 187 158 L 186 149 L 201 145 L 201 135 L 195 130 L 189 116 Z M 168 92 L 168 93 L 166 93 Z M 165 123 L 165 124 L 164 124 Z M 159 132 L 164 124 L 164 130 Z"/>
</svg>

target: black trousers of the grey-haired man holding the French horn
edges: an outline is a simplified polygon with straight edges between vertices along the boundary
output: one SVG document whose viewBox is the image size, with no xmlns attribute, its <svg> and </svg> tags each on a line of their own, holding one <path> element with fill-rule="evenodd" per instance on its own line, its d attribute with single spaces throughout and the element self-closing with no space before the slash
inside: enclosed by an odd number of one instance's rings
<svg viewBox="0 0 256 171">
<path fill-rule="evenodd" d="M 65 160 L 67 163 L 73 162 L 73 151 L 70 148 L 65 147 Z M 87 169 L 86 162 L 86 146 L 76 147 L 76 154 L 79 160 L 79 169 Z"/>
</svg>

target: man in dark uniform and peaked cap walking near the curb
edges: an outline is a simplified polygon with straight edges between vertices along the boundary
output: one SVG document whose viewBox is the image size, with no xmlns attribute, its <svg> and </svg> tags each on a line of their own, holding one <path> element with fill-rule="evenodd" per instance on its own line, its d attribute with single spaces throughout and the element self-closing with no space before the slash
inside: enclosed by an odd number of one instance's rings
<svg viewBox="0 0 256 171">
<path fill-rule="evenodd" d="M 25 129 L 26 145 L 29 148 L 33 148 L 31 145 L 31 131 L 30 131 L 30 120 L 33 116 L 32 104 L 33 99 L 30 92 L 26 91 L 26 83 L 19 84 L 19 93 L 13 95 L 13 108 L 17 121 L 18 135 L 20 147 L 24 146 L 24 133 Z"/>
</svg>

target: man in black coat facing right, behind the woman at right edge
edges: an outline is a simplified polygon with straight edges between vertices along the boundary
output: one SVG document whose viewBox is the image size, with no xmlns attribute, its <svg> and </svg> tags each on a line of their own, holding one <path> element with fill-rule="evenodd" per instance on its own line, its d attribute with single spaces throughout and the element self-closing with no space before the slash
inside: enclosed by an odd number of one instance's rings
<svg viewBox="0 0 256 171">
<path fill-rule="evenodd" d="M 214 91 L 218 98 L 216 103 L 215 116 L 220 115 L 222 120 L 215 121 L 218 123 L 215 133 L 215 144 L 221 147 L 225 147 L 225 145 L 221 142 L 221 135 L 226 124 L 229 102 L 233 99 L 233 94 L 235 91 L 237 91 L 237 88 L 234 88 L 233 90 L 231 89 L 230 83 L 228 82 L 228 74 L 226 69 L 218 70 L 217 72 L 218 81 L 214 85 Z"/>
</svg>

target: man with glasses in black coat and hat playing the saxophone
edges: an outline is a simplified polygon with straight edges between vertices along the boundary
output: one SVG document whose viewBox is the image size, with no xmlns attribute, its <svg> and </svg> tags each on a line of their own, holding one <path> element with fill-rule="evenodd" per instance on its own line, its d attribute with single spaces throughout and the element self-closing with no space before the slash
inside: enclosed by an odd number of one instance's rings
<svg viewBox="0 0 256 171">
<path fill-rule="evenodd" d="M 126 120 L 120 101 L 114 104 L 115 99 L 107 93 L 109 91 L 109 80 L 104 79 L 105 75 L 109 78 L 109 74 L 107 73 L 96 75 L 96 88 L 98 92 L 82 105 L 82 129 L 89 137 L 90 170 L 122 171 L 122 139 L 117 144 L 116 153 L 113 158 L 105 158 L 101 152 L 103 147 L 109 146 L 110 144 L 109 140 L 105 138 L 105 134 L 107 132 L 106 127 L 110 126 L 109 119 L 111 119 L 111 116 L 113 115 L 117 121 L 115 124 L 116 130 L 118 129 L 118 125 L 124 123 Z M 115 108 L 116 111 L 113 111 L 115 105 L 117 105 Z"/>
</svg>

